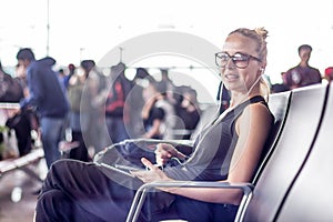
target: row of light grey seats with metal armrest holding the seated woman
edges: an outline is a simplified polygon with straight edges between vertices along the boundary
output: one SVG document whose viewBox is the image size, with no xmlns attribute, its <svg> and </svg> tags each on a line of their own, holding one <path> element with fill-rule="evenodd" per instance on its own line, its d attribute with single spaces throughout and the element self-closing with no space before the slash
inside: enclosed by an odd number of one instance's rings
<svg viewBox="0 0 333 222">
<path fill-rule="evenodd" d="M 320 84 L 272 94 L 275 127 L 252 183 L 179 181 L 143 185 L 127 221 L 135 221 L 155 186 L 242 189 L 235 221 L 330 221 L 333 218 L 333 87 Z M 222 219 L 221 219 L 222 220 Z"/>
</svg>

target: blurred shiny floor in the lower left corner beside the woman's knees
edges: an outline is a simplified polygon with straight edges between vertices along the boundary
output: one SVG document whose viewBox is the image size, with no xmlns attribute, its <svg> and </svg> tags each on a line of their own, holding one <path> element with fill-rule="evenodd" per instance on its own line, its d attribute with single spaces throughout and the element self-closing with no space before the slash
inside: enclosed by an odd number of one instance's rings
<svg viewBox="0 0 333 222">
<path fill-rule="evenodd" d="M 41 176 L 44 162 L 31 167 Z M 33 194 L 41 182 L 20 170 L 11 171 L 0 178 L 0 222 L 32 222 L 37 195 Z"/>
</svg>

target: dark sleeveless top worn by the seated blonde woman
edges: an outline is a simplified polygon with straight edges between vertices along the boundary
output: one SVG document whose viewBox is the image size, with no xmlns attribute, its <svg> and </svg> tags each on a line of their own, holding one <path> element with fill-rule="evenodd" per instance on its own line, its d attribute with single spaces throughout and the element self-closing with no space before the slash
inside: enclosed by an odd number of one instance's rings
<svg viewBox="0 0 333 222">
<path fill-rule="evenodd" d="M 190 159 L 182 165 L 165 168 L 165 174 L 175 180 L 225 180 L 239 140 L 235 121 L 249 104 L 258 102 L 268 107 L 264 99 L 256 95 L 235 107 L 221 121 L 206 127 L 196 138 Z"/>
</svg>

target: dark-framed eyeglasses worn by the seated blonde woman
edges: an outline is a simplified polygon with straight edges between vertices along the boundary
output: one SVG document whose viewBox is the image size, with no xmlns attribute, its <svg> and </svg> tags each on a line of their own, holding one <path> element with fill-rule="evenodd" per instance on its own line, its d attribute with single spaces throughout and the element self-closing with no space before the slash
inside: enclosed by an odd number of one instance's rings
<svg viewBox="0 0 333 222">
<path fill-rule="evenodd" d="M 261 59 L 241 52 L 236 52 L 234 56 L 230 56 L 226 52 L 215 53 L 215 63 L 218 67 L 225 68 L 229 59 L 231 59 L 234 65 L 239 69 L 245 69 L 249 65 L 250 59 L 261 62 Z"/>
</svg>

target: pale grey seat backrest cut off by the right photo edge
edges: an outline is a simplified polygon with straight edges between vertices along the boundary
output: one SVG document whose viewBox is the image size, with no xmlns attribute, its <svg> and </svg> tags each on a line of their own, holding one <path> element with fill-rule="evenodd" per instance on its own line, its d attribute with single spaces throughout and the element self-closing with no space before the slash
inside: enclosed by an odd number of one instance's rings
<svg viewBox="0 0 333 222">
<path fill-rule="evenodd" d="M 332 144 L 333 85 L 331 84 L 316 141 L 289 195 L 285 198 L 280 213 L 276 215 L 278 221 L 332 221 Z"/>
</svg>

